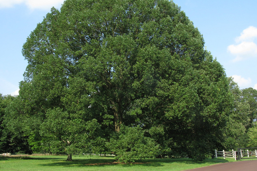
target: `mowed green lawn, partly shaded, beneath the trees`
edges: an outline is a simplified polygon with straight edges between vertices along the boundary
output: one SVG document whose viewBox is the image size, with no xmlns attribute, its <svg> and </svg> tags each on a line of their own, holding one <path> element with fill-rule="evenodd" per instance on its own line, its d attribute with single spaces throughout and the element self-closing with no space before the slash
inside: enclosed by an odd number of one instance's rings
<svg viewBox="0 0 257 171">
<path fill-rule="evenodd" d="M 232 162 L 233 159 L 207 159 L 197 162 L 188 158 L 146 159 L 134 164 L 113 163 L 111 156 L 73 156 L 73 161 L 65 161 L 67 156 L 31 156 L 22 158 L 0 158 L 0 170 L 5 171 L 181 171 L 212 164 Z"/>
</svg>

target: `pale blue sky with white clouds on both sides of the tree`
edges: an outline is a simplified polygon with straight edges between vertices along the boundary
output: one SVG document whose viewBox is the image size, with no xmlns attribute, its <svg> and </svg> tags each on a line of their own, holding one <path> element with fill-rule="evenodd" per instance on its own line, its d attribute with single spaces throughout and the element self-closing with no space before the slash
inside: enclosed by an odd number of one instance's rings
<svg viewBox="0 0 257 171">
<path fill-rule="evenodd" d="M 203 34 L 205 46 L 240 89 L 257 89 L 257 1 L 173 0 Z M 63 0 L 0 0 L 0 93 L 17 95 L 27 61 L 23 44 Z"/>
</svg>

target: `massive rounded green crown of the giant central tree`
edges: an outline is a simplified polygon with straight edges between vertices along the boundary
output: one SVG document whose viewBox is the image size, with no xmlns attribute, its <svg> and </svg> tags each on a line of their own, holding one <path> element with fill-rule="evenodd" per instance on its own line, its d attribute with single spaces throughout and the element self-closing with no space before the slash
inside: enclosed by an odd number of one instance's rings
<svg viewBox="0 0 257 171">
<path fill-rule="evenodd" d="M 80 123 L 96 119 L 106 141 L 122 125 L 140 127 L 162 155 L 180 149 L 199 160 L 222 141 L 229 81 L 172 1 L 66 0 L 22 52 L 22 114 L 39 124 L 58 109 Z"/>
</svg>

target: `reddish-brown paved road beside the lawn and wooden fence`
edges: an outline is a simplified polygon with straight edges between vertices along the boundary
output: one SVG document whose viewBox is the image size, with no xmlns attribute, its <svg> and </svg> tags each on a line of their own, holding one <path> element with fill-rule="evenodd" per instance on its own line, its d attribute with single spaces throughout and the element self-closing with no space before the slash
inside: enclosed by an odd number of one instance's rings
<svg viewBox="0 0 257 171">
<path fill-rule="evenodd" d="M 220 163 L 186 171 L 257 171 L 257 160 Z"/>
</svg>

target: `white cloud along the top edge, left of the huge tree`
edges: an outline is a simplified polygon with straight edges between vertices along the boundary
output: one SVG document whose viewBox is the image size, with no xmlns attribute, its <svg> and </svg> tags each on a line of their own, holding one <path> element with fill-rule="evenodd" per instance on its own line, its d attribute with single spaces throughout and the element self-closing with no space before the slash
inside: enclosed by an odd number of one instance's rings
<svg viewBox="0 0 257 171">
<path fill-rule="evenodd" d="M 53 6 L 60 6 L 64 0 L 0 0 L 0 8 L 13 7 L 25 3 L 30 9 L 50 9 Z"/>
</svg>

